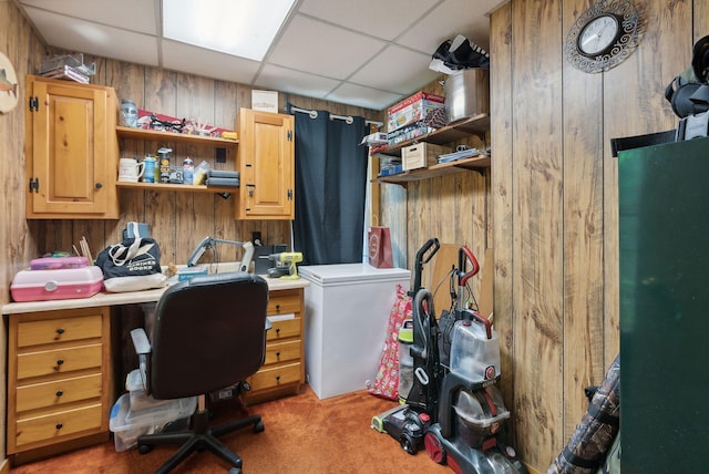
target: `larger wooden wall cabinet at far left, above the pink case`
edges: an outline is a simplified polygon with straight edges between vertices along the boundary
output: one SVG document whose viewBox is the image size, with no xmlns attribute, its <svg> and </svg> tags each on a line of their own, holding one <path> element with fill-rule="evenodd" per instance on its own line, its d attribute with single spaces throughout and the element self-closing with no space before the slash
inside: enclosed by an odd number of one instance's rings
<svg viewBox="0 0 709 474">
<path fill-rule="evenodd" d="M 115 91 L 28 76 L 28 219 L 115 219 Z"/>
</svg>

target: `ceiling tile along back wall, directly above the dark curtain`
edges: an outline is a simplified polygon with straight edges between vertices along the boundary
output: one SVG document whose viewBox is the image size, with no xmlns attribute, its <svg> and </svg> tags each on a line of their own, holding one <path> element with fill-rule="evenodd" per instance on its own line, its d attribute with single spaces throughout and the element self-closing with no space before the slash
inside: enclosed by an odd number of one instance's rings
<svg viewBox="0 0 709 474">
<path fill-rule="evenodd" d="M 266 64 L 256 78 L 254 85 L 261 89 L 289 92 L 308 97 L 323 99 L 339 84 L 333 79 Z"/>
</svg>

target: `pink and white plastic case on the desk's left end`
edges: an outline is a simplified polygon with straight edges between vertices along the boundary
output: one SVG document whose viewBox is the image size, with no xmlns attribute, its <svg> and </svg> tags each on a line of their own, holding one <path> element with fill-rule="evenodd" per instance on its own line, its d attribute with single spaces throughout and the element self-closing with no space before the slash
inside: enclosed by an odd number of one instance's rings
<svg viewBox="0 0 709 474">
<path fill-rule="evenodd" d="M 20 270 L 12 279 L 14 301 L 89 298 L 103 289 L 103 272 L 95 265 L 59 270 Z"/>
</svg>

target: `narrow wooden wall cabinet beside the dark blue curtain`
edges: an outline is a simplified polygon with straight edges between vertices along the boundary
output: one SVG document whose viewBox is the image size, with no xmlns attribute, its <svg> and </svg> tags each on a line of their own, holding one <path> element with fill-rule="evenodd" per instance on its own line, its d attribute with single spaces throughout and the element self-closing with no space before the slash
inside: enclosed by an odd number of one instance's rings
<svg viewBox="0 0 709 474">
<path fill-rule="evenodd" d="M 294 117 L 242 109 L 238 219 L 294 218 Z"/>
</svg>

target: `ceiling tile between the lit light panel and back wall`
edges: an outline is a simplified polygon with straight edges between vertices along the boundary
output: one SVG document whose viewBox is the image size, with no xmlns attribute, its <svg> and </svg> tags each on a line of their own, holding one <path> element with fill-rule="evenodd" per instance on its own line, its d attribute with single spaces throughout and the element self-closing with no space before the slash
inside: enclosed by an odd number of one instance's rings
<svg viewBox="0 0 709 474">
<path fill-rule="evenodd" d="M 249 84 L 259 63 L 177 41 L 163 40 L 163 68 L 204 78 Z"/>
</svg>

